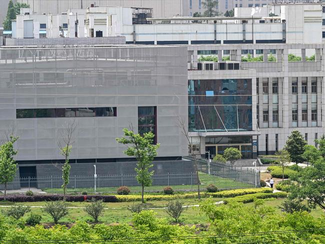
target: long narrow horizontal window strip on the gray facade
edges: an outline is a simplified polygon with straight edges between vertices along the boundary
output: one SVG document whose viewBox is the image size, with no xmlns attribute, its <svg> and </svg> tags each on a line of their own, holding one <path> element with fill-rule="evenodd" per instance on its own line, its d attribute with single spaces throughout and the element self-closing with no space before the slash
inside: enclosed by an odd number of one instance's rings
<svg viewBox="0 0 325 244">
<path fill-rule="evenodd" d="M 116 116 L 116 107 L 16 109 L 16 118 Z"/>
</svg>

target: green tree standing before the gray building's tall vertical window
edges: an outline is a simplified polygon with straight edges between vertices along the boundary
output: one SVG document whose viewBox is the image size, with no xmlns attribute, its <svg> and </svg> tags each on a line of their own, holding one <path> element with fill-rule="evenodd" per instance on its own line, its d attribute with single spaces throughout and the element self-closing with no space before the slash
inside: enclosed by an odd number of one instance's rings
<svg viewBox="0 0 325 244">
<path fill-rule="evenodd" d="M 141 184 L 142 193 L 141 200 L 144 202 L 144 186 L 150 186 L 152 184 L 151 176 L 153 171 L 149 169 L 153 166 L 152 161 L 157 155 L 157 149 L 160 144 L 153 144 L 154 134 L 150 131 L 140 135 L 134 133 L 133 129 L 128 130 L 123 129 L 124 136 L 116 138 L 117 142 L 122 144 L 129 144 L 126 150 L 124 150 L 125 155 L 135 156 L 137 160 L 136 164 L 136 180 Z"/>
</svg>

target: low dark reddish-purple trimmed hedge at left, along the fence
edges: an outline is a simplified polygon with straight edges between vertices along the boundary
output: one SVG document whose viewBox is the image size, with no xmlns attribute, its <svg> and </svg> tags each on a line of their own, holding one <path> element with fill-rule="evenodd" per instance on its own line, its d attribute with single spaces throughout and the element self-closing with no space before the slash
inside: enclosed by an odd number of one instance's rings
<svg viewBox="0 0 325 244">
<path fill-rule="evenodd" d="M 96 199 L 104 202 L 116 202 L 117 198 L 115 195 L 87 195 L 87 200 Z M 44 194 L 44 195 L 23 195 L 14 194 L 6 195 L 5 199 L 3 195 L 0 195 L 0 201 L 7 200 L 13 202 L 32 202 L 32 201 L 58 201 L 63 200 L 62 194 Z M 66 201 L 84 201 L 83 195 L 66 195 Z"/>
</svg>

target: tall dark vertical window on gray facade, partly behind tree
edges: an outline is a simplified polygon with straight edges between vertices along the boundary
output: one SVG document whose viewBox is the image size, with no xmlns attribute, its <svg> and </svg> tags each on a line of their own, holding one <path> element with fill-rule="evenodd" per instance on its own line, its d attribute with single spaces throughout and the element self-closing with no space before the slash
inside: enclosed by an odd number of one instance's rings
<svg viewBox="0 0 325 244">
<path fill-rule="evenodd" d="M 151 131 L 154 134 L 153 143 L 157 143 L 157 107 L 139 106 L 137 107 L 137 130 L 143 135 Z"/>
</svg>

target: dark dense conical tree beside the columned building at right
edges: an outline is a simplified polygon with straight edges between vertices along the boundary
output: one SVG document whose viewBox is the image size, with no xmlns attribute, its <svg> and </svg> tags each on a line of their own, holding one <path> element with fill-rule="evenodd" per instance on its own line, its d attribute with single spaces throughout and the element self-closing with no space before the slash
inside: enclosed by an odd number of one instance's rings
<svg viewBox="0 0 325 244">
<path fill-rule="evenodd" d="M 302 134 L 298 130 L 293 130 L 291 132 L 285 142 L 284 149 L 289 152 L 292 162 L 301 163 L 304 161 L 302 154 L 306 144 L 307 142 L 304 140 Z"/>
</svg>

